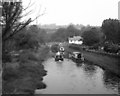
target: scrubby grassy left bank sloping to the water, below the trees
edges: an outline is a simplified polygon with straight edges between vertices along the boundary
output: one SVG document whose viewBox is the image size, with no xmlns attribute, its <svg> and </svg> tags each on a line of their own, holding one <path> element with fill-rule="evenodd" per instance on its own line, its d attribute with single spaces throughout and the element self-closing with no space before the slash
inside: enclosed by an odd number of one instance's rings
<svg viewBox="0 0 120 96">
<path fill-rule="evenodd" d="M 49 48 L 44 46 L 37 51 L 24 50 L 19 58 L 3 66 L 3 94 L 34 94 L 35 89 L 45 88 L 42 82 L 46 70 L 42 62 Z"/>
</svg>

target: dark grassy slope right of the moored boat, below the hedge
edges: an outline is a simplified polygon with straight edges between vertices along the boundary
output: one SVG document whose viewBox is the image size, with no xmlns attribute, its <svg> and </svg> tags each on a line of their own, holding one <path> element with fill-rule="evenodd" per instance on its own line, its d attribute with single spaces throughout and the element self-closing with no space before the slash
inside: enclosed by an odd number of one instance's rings
<svg viewBox="0 0 120 96">
<path fill-rule="evenodd" d="M 97 52 L 82 51 L 85 59 L 93 64 L 101 66 L 103 69 L 112 71 L 120 76 L 120 58 L 115 56 L 103 55 Z"/>
</svg>

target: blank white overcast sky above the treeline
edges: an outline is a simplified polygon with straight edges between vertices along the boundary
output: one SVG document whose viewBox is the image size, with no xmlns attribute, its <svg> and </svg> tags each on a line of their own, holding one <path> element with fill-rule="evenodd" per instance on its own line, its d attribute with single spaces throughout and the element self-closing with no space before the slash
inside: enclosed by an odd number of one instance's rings
<svg viewBox="0 0 120 96">
<path fill-rule="evenodd" d="M 23 0 L 27 6 L 30 0 Z M 31 0 L 33 10 L 29 17 L 44 13 L 37 24 L 83 24 L 101 26 L 104 19 L 118 18 L 120 0 Z M 39 10 L 41 9 L 41 10 Z M 36 23 L 36 22 L 34 22 Z"/>
</svg>

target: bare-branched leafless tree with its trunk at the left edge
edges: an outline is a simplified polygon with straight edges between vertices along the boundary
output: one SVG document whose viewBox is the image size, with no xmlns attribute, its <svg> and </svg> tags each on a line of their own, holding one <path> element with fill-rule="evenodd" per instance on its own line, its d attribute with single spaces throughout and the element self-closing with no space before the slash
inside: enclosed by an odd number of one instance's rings
<svg viewBox="0 0 120 96">
<path fill-rule="evenodd" d="M 26 14 L 22 14 L 23 11 L 26 11 L 28 7 L 23 8 L 22 2 L 2 2 L 2 57 L 6 55 L 7 50 L 7 42 L 12 40 L 13 37 L 19 33 L 22 29 L 24 29 L 29 23 L 33 22 L 35 19 L 27 19 L 24 22 L 21 21 L 25 16 L 27 16 L 31 11 Z"/>
</svg>

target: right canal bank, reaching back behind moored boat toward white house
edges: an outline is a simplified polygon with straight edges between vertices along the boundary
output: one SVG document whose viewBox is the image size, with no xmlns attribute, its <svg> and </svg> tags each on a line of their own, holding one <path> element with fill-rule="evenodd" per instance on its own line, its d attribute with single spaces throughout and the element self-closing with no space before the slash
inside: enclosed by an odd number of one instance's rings
<svg viewBox="0 0 120 96">
<path fill-rule="evenodd" d="M 68 52 L 81 51 L 86 61 L 102 67 L 105 70 L 110 70 L 120 77 L 120 56 L 102 53 L 98 51 L 80 50 L 79 47 L 67 47 Z"/>
</svg>

